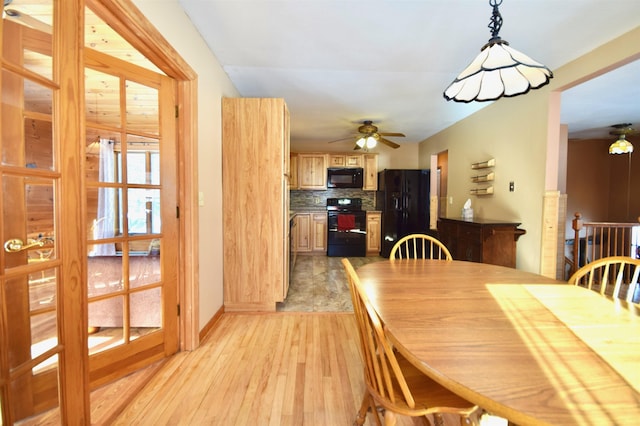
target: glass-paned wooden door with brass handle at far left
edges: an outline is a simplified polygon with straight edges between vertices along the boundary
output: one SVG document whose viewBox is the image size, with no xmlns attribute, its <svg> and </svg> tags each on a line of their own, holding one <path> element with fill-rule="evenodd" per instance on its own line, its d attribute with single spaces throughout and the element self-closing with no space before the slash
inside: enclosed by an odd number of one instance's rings
<svg viewBox="0 0 640 426">
<path fill-rule="evenodd" d="M 6 2 L 5 2 L 6 3 Z M 60 260 L 51 1 L 2 19 L 0 396 L 13 423 L 58 403 Z"/>
</svg>

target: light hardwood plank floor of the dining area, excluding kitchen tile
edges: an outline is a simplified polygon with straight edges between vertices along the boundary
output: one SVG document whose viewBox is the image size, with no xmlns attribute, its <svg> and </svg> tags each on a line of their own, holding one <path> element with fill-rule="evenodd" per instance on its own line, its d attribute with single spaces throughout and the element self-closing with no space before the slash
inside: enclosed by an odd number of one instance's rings
<svg viewBox="0 0 640 426">
<path fill-rule="evenodd" d="M 357 339 L 350 313 L 225 314 L 200 348 L 170 358 L 113 424 L 351 425 L 364 392 Z M 365 425 L 375 424 L 369 414 Z M 398 419 L 414 424 L 424 422 Z"/>
</svg>

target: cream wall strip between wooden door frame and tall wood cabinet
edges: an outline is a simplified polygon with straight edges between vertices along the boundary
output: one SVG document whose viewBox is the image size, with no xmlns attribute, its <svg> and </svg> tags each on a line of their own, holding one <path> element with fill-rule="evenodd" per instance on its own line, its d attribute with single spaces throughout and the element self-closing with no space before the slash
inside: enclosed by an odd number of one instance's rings
<svg viewBox="0 0 640 426">
<path fill-rule="evenodd" d="M 134 0 L 134 4 L 198 74 L 198 185 L 200 209 L 200 327 L 222 307 L 221 98 L 235 87 L 176 0 Z"/>
</svg>

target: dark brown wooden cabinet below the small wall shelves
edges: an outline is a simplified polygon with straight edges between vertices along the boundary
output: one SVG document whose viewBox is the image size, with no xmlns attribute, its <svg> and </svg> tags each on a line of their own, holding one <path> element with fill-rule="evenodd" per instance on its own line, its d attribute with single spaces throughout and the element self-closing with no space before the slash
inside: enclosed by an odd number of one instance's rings
<svg viewBox="0 0 640 426">
<path fill-rule="evenodd" d="M 438 236 L 456 260 L 516 267 L 518 222 L 487 219 L 438 219 Z"/>
</svg>

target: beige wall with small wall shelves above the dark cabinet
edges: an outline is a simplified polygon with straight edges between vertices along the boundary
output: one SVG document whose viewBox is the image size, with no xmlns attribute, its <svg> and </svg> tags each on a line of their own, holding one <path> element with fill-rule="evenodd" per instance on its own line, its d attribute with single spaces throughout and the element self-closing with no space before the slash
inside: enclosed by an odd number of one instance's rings
<svg viewBox="0 0 640 426">
<path fill-rule="evenodd" d="M 558 92 L 640 57 L 640 27 L 554 71 L 551 84 L 524 96 L 501 99 L 420 144 L 420 164 L 449 151 L 448 195 L 452 212 L 471 198 L 474 214 L 517 220 L 527 234 L 518 241 L 517 267 L 541 270 L 543 198 L 558 189 L 563 159 Z M 471 163 L 496 159 L 495 194 L 473 197 Z M 563 160 L 564 161 L 564 160 Z M 515 192 L 509 192 L 509 182 Z"/>
</svg>

